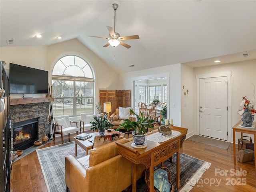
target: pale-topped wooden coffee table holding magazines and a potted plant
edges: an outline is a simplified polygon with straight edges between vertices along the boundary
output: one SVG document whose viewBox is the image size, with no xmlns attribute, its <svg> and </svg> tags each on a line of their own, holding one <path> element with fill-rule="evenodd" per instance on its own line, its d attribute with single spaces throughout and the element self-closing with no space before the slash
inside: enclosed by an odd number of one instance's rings
<svg viewBox="0 0 256 192">
<path fill-rule="evenodd" d="M 109 130 L 109 129 L 108 129 Z M 114 133 L 119 133 L 120 136 L 119 138 L 124 138 L 124 133 L 120 132 L 120 131 L 115 131 L 114 129 L 110 129 L 111 132 L 108 132 L 106 130 L 106 134 L 114 134 Z M 93 144 L 93 140 L 94 140 L 94 137 L 96 135 L 99 135 L 99 132 L 93 132 L 93 133 L 90 133 L 90 135 L 92 135 L 92 137 L 86 139 L 86 140 L 81 140 L 81 139 L 76 139 L 76 137 L 74 137 L 74 140 L 75 140 L 75 146 L 76 146 L 76 153 L 75 155 L 77 156 L 77 145 L 79 145 L 82 149 L 84 149 L 86 151 L 86 155 L 88 155 L 88 151 L 90 149 L 92 149 L 92 144 Z M 89 140 L 92 140 L 92 142 L 90 142 Z"/>
</svg>

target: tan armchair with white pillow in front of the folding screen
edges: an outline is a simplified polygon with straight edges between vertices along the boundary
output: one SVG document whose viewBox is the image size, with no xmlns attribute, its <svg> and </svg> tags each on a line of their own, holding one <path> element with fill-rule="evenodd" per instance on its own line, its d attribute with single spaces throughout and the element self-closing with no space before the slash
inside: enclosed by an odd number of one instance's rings
<svg viewBox="0 0 256 192">
<path fill-rule="evenodd" d="M 122 123 L 124 123 L 124 119 L 129 119 L 130 121 L 136 121 L 136 116 L 134 116 L 130 109 L 133 110 L 130 107 L 124 108 L 119 107 L 116 108 L 116 111 L 110 116 L 110 119 L 112 120 L 112 124 L 114 127 L 112 129 L 117 129 L 120 127 Z"/>
</svg>

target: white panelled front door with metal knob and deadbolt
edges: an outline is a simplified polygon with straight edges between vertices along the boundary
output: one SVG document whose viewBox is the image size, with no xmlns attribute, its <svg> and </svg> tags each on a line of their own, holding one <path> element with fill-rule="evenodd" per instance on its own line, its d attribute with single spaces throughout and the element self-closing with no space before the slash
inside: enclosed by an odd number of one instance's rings
<svg viewBox="0 0 256 192">
<path fill-rule="evenodd" d="M 199 134 L 228 140 L 227 77 L 199 81 Z"/>
</svg>

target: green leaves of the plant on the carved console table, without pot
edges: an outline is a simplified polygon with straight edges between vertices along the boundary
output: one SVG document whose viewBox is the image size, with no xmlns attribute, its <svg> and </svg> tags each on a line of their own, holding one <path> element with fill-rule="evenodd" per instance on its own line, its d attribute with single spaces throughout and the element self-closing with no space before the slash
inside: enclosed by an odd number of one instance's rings
<svg viewBox="0 0 256 192">
<path fill-rule="evenodd" d="M 129 131 L 130 128 L 132 128 L 132 130 L 134 130 L 136 135 L 142 135 L 146 133 L 146 128 L 154 128 L 154 126 L 152 125 L 152 122 L 154 122 L 154 120 L 148 119 L 148 117 L 144 117 L 142 112 L 140 112 L 141 116 L 136 114 L 131 109 L 130 109 L 130 112 L 136 116 L 137 121 L 131 121 L 129 119 L 125 119 L 124 123 L 121 124 L 121 126 L 117 128 L 116 131 L 120 130 L 121 128 Z"/>
</svg>

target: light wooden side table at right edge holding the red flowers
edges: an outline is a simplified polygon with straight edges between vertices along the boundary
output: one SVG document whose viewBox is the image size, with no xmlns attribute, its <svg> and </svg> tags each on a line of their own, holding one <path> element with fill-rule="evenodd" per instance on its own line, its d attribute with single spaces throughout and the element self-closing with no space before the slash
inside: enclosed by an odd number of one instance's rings
<svg viewBox="0 0 256 192">
<path fill-rule="evenodd" d="M 233 157 L 234 157 L 234 164 L 236 164 L 236 132 L 241 133 L 241 137 L 243 136 L 243 133 L 248 133 L 254 135 L 254 166 L 256 170 L 256 158 L 255 158 L 255 152 L 256 152 L 256 125 L 252 124 L 253 128 L 246 128 L 242 127 L 242 120 L 238 121 L 237 124 L 233 126 Z"/>
</svg>

